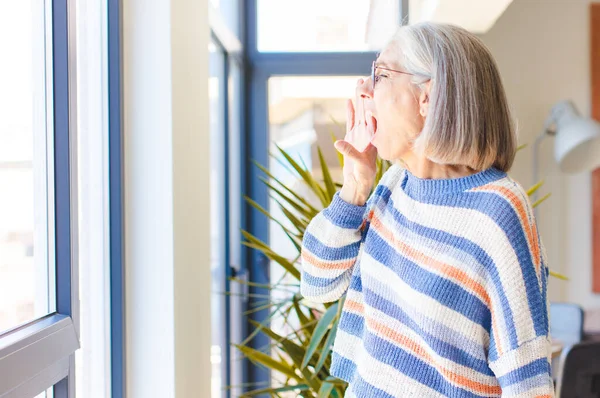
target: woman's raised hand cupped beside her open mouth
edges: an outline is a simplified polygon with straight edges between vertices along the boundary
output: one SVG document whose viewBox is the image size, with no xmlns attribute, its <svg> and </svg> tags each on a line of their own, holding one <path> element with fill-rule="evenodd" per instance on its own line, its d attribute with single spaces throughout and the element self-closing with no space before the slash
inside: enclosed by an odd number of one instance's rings
<svg viewBox="0 0 600 398">
<path fill-rule="evenodd" d="M 335 142 L 335 148 L 344 155 L 344 184 L 340 198 L 358 206 L 367 202 L 377 172 L 377 149 L 371 144 L 375 122 L 371 112 L 365 114 L 364 99 L 359 93 L 362 83 L 362 79 L 359 80 L 356 89 L 356 109 L 352 100 L 348 100 L 346 136 Z"/>
</svg>

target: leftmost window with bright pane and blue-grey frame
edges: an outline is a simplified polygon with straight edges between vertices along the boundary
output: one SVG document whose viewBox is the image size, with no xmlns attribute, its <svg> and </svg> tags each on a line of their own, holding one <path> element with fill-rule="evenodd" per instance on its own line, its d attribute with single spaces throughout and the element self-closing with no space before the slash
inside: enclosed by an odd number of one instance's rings
<svg viewBox="0 0 600 398">
<path fill-rule="evenodd" d="M 0 395 L 73 393 L 73 4 L 0 4 Z"/>
</svg>

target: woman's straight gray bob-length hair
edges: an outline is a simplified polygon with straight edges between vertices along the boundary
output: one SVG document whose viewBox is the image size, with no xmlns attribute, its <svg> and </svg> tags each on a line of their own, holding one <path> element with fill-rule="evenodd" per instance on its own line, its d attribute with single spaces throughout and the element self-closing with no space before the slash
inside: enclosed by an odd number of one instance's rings
<svg viewBox="0 0 600 398">
<path fill-rule="evenodd" d="M 447 24 L 403 26 L 391 39 L 400 66 L 423 89 L 431 79 L 429 111 L 413 148 L 440 164 L 508 171 L 517 150 L 515 125 L 488 48 L 474 34 Z"/>
</svg>

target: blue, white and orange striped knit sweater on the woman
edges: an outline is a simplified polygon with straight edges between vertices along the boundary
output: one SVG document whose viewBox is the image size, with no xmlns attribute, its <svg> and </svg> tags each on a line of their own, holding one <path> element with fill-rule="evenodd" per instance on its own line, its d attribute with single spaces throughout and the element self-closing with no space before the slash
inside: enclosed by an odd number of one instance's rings
<svg viewBox="0 0 600 398">
<path fill-rule="evenodd" d="M 547 278 L 529 198 L 495 168 L 393 166 L 365 206 L 336 195 L 302 247 L 303 296 L 345 295 L 346 397 L 553 397 Z"/>
</svg>

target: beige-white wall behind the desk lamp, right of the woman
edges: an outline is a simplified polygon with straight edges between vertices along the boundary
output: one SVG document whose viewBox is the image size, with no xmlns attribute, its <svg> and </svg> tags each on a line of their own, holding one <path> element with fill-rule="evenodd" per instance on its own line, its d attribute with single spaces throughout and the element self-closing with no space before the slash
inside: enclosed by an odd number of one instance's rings
<svg viewBox="0 0 600 398">
<path fill-rule="evenodd" d="M 589 0 L 515 0 L 482 36 L 494 53 L 519 124 L 520 143 L 533 144 L 552 105 L 571 99 L 590 114 Z M 551 300 L 600 306 L 591 291 L 590 173 L 567 176 L 553 161 L 553 138 L 541 146 L 544 193 L 538 224 L 550 268 L 571 280 L 551 279 Z M 522 150 L 511 175 L 528 187 L 531 146 Z"/>
</svg>

